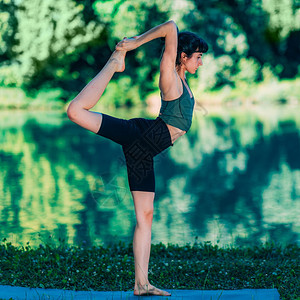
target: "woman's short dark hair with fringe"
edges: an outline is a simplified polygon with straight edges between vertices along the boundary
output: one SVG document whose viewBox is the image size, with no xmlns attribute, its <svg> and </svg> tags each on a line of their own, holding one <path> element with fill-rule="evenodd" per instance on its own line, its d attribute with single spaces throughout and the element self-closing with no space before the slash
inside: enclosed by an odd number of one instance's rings
<svg viewBox="0 0 300 300">
<path fill-rule="evenodd" d="M 205 53 L 207 52 L 207 50 L 207 43 L 197 34 L 190 31 L 179 32 L 176 65 L 180 65 L 182 52 L 184 52 L 188 56 L 188 58 L 190 58 L 194 52 Z"/>
</svg>

